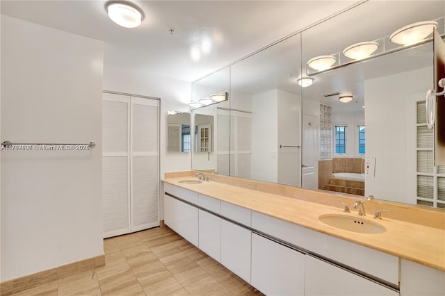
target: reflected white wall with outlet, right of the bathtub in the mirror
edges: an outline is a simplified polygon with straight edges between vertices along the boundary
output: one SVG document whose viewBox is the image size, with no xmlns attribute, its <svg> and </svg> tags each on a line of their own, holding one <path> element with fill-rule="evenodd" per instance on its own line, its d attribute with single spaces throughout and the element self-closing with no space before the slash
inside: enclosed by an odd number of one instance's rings
<svg viewBox="0 0 445 296">
<path fill-rule="evenodd" d="M 365 81 L 366 157 L 376 158 L 375 177 L 365 176 L 365 195 L 413 202 L 414 106 L 416 100 L 425 99 L 431 81 L 431 67 Z"/>
</svg>

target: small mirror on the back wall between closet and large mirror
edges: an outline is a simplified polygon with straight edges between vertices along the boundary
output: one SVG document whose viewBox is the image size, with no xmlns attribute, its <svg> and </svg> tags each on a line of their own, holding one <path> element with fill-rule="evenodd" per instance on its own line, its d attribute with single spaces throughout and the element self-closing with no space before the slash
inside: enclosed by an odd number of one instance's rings
<svg viewBox="0 0 445 296">
<path fill-rule="evenodd" d="M 191 151 L 190 113 L 168 111 L 168 152 Z"/>
</svg>

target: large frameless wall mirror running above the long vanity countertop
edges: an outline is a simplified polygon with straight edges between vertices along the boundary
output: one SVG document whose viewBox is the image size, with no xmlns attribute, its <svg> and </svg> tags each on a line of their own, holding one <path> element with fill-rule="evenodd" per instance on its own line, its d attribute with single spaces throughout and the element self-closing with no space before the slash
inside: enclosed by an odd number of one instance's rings
<svg viewBox="0 0 445 296">
<path fill-rule="evenodd" d="M 445 207 L 445 167 L 432 165 L 425 117 L 432 43 L 403 47 L 388 38 L 425 20 L 437 20 L 444 36 L 444 15 L 443 1 L 367 1 L 231 65 L 229 106 L 213 113 L 213 170 Z M 373 40 L 378 57 L 343 56 L 349 45 Z M 337 58 L 333 69 L 307 66 L 326 55 Z M 297 79 L 306 76 L 313 83 L 302 88 Z"/>
</svg>

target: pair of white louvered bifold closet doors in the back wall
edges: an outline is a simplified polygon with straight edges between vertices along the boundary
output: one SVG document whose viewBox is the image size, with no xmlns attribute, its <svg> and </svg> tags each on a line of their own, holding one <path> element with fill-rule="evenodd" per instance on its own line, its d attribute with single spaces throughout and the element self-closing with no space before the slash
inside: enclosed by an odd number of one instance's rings
<svg viewBox="0 0 445 296">
<path fill-rule="evenodd" d="M 103 94 L 104 238 L 159 226 L 159 100 Z"/>
</svg>

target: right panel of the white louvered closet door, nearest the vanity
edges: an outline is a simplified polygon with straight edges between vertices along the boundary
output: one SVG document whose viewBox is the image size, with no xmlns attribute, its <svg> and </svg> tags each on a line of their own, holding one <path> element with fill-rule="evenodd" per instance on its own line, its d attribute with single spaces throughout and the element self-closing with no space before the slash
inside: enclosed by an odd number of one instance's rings
<svg viewBox="0 0 445 296">
<path fill-rule="evenodd" d="M 131 231 L 159 226 L 159 101 L 131 97 Z"/>
</svg>

